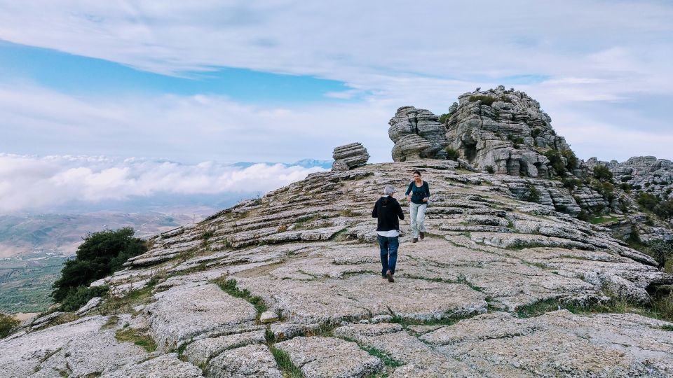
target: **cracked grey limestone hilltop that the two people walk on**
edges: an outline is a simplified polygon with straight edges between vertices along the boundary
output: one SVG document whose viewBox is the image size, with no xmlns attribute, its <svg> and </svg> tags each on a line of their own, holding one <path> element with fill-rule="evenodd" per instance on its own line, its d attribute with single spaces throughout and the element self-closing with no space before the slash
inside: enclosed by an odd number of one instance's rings
<svg viewBox="0 0 673 378">
<path fill-rule="evenodd" d="M 402 222 L 388 283 L 371 208 L 416 169 L 428 236 Z M 430 159 L 311 174 L 154 237 L 93 283 L 107 297 L 1 340 L 0 377 L 673 376 L 673 323 L 613 311 L 673 278 L 512 191 L 552 181 L 515 180 Z"/>
</svg>

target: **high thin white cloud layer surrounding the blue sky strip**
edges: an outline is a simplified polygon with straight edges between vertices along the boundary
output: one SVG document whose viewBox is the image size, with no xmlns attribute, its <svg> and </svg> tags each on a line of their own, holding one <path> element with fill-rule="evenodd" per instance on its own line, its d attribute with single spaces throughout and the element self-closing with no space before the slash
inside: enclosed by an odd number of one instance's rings
<svg viewBox="0 0 673 378">
<path fill-rule="evenodd" d="M 582 155 L 611 148 L 620 160 L 641 151 L 673 158 L 670 132 L 654 130 L 668 115 L 638 124 L 641 137 L 630 138 L 639 113 L 623 109 L 644 96 L 673 97 L 672 19 L 665 1 L 0 0 L 6 41 L 158 73 L 233 66 L 313 75 L 353 88 L 328 97 L 367 94 L 264 109 L 206 95 L 86 99 L 13 85 L 0 88 L 0 143 L 20 153 L 292 161 L 361 141 L 380 162 L 390 160 L 387 122 L 397 107 L 441 113 L 458 94 L 504 83 L 538 99 Z M 508 84 L 517 75 L 547 79 Z M 602 119 L 617 110 L 630 113 Z M 584 128 L 596 124 L 597 139 Z"/>
</svg>

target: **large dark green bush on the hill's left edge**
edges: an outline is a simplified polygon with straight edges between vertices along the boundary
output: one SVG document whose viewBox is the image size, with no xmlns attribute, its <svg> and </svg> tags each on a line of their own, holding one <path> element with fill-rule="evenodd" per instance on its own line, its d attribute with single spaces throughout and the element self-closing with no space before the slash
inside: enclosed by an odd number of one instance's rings
<svg viewBox="0 0 673 378">
<path fill-rule="evenodd" d="M 121 269 L 129 258 L 147 251 L 144 241 L 133 237 L 134 233 L 132 228 L 120 228 L 87 234 L 77 247 L 75 258 L 64 262 L 61 276 L 53 284 L 54 300 L 64 300 L 70 290 L 89 286 Z"/>
</svg>

